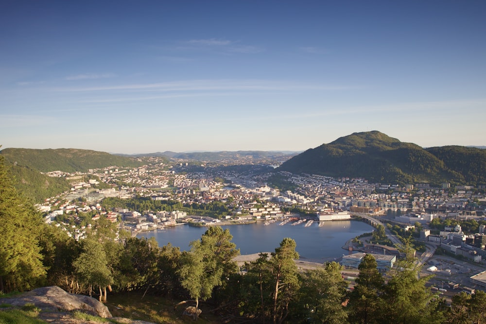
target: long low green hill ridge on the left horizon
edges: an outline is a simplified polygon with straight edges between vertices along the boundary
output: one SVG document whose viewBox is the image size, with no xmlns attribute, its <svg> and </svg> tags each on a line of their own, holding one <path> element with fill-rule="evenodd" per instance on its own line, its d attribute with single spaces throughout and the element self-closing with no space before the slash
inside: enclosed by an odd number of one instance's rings
<svg viewBox="0 0 486 324">
<path fill-rule="evenodd" d="M 137 167 L 142 163 L 134 158 L 105 152 L 78 149 L 3 149 L 5 160 L 18 166 L 29 167 L 41 172 L 65 171 L 86 172 L 88 169 L 109 166 Z"/>
</svg>

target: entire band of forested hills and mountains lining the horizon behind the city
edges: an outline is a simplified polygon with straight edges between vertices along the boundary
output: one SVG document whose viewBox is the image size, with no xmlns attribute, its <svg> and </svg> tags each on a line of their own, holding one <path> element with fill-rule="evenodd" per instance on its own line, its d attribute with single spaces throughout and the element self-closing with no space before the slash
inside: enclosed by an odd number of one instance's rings
<svg viewBox="0 0 486 324">
<path fill-rule="evenodd" d="M 451 184 L 485 185 L 486 150 L 477 147 L 443 146 L 421 148 L 400 142 L 378 131 L 353 133 L 322 144 L 303 153 L 236 151 L 236 152 L 157 152 L 137 155 L 109 154 L 78 149 L 15 149 L 0 151 L 12 165 L 17 188 L 35 201 L 52 197 L 66 189 L 69 182 L 41 172 L 86 172 L 108 166 L 138 167 L 142 157 L 233 164 L 276 164 L 276 170 L 315 173 L 332 177 L 360 177 L 372 182 L 415 184 L 450 182 Z"/>
</svg>

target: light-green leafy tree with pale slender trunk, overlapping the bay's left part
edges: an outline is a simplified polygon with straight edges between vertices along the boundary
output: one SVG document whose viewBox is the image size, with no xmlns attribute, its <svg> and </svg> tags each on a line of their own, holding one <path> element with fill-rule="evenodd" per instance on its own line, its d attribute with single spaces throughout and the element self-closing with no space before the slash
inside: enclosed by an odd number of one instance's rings
<svg viewBox="0 0 486 324">
<path fill-rule="evenodd" d="M 240 250 L 236 249 L 231 239 L 233 237 L 229 230 L 211 226 L 200 240 L 191 242 L 191 251 L 184 252 L 180 257 L 177 273 L 182 287 L 189 291 L 196 302 L 196 318 L 199 315 L 199 299 L 211 297 L 214 287 L 223 285 L 223 278 L 238 269 L 232 259 L 239 255 Z"/>
</svg>

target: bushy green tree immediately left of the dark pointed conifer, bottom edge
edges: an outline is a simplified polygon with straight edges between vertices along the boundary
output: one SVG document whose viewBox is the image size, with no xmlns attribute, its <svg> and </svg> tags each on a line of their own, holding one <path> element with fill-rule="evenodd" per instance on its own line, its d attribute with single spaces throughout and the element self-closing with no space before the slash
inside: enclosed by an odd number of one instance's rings
<svg viewBox="0 0 486 324">
<path fill-rule="evenodd" d="M 299 309 L 305 309 L 305 318 L 311 323 L 347 323 L 343 307 L 346 300 L 347 283 L 341 276 L 343 269 L 330 262 L 325 269 L 302 273 Z"/>
</svg>

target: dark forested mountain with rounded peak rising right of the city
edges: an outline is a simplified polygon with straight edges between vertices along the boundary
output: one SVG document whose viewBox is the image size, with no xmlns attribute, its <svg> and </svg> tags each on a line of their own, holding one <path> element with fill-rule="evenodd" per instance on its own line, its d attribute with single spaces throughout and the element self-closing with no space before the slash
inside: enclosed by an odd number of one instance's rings
<svg viewBox="0 0 486 324">
<path fill-rule="evenodd" d="M 465 146 L 421 148 L 378 131 L 353 133 L 300 153 L 277 170 L 371 182 L 486 184 L 486 150 Z"/>
</svg>

